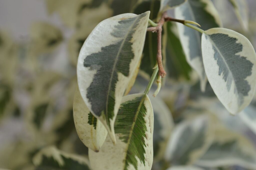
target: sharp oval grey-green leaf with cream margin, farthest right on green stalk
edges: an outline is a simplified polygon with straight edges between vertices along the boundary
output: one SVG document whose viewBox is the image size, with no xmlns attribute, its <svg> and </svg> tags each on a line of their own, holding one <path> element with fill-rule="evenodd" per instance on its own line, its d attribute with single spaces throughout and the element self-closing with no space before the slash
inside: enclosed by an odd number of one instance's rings
<svg viewBox="0 0 256 170">
<path fill-rule="evenodd" d="M 231 114 L 242 111 L 256 89 L 256 54 L 250 41 L 233 30 L 212 28 L 202 35 L 202 55 L 218 99 Z"/>
</svg>

